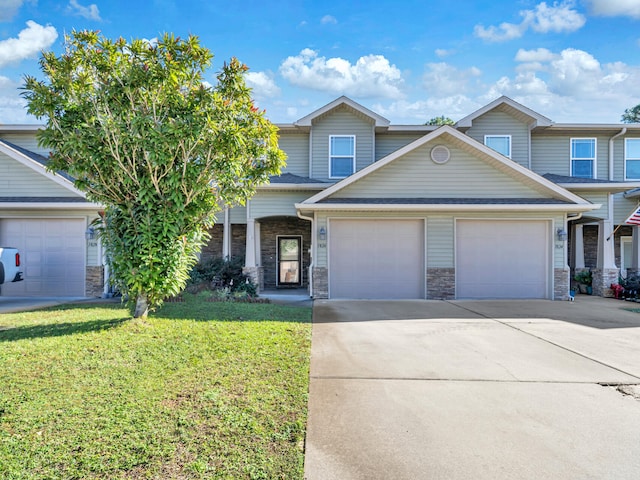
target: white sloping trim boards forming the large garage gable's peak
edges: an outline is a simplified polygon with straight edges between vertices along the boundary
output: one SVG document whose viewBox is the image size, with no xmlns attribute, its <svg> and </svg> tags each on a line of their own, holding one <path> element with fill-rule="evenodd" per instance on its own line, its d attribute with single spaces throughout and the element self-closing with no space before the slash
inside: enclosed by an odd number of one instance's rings
<svg viewBox="0 0 640 480">
<path fill-rule="evenodd" d="M 434 132 L 431 132 L 423 137 L 420 137 L 417 140 L 414 140 L 413 142 L 411 142 L 408 145 L 405 145 L 404 147 L 396 150 L 395 152 L 387 155 L 386 157 L 378 160 L 377 162 L 372 163 L 371 165 L 363 168 L 362 170 L 354 173 L 353 175 L 345 178 L 344 180 L 335 183 L 333 186 L 327 188 L 326 190 L 324 190 L 323 192 L 318 193 L 317 195 L 314 195 L 313 197 L 307 199 L 305 201 L 305 203 L 316 203 L 320 200 L 324 200 L 325 198 L 329 197 L 330 195 L 333 195 L 334 193 L 342 190 L 343 188 L 347 187 L 348 185 L 351 185 L 352 183 L 358 181 L 359 179 L 361 179 L 362 177 L 369 175 L 371 172 L 374 172 L 376 170 L 378 170 L 379 168 L 384 167 L 385 165 L 388 165 L 389 163 L 393 162 L 394 160 L 396 160 L 397 158 L 402 157 L 403 155 L 406 155 L 407 153 L 415 150 L 416 148 L 421 147 L 422 145 L 431 142 L 432 140 L 437 139 L 438 137 L 444 135 L 444 134 L 448 134 L 451 135 L 452 137 L 456 138 L 457 140 L 460 140 L 464 143 L 466 143 L 467 145 L 471 146 L 472 148 L 478 150 L 479 152 L 489 156 L 492 158 L 492 160 L 494 160 L 495 162 L 497 162 L 498 164 L 502 165 L 502 167 L 504 167 L 504 170 L 511 170 L 514 172 L 517 172 L 518 174 L 528 178 L 529 180 L 532 180 L 533 182 L 537 183 L 538 185 L 544 187 L 546 190 L 548 190 L 549 192 L 560 196 L 563 200 L 572 202 L 572 203 L 576 203 L 576 204 L 583 204 L 585 203 L 585 200 L 574 194 L 571 193 L 570 191 L 568 191 L 565 188 L 562 188 L 560 186 L 558 186 L 557 184 L 553 183 L 550 180 L 547 180 L 546 178 L 532 172 L 531 170 L 529 170 L 526 167 L 523 167 L 522 165 L 520 165 L 519 163 L 514 162 L 513 160 L 510 160 L 506 157 L 503 157 L 502 155 L 500 155 L 499 153 L 497 153 L 495 150 L 487 147 L 486 145 L 481 144 L 480 142 L 474 140 L 473 138 L 469 137 L 468 135 L 465 135 L 462 132 L 459 132 L 458 130 L 456 130 L 453 127 L 450 127 L 449 125 L 444 125 L 440 128 L 438 128 L 437 130 L 435 130 Z"/>
</svg>

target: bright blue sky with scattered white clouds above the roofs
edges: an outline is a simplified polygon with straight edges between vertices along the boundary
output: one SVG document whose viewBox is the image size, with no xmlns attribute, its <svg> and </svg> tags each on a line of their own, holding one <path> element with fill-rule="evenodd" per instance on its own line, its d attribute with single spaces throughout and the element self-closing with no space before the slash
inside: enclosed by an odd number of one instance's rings
<svg viewBox="0 0 640 480">
<path fill-rule="evenodd" d="M 617 123 L 640 103 L 640 0 L 0 0 L 0 122 L 65 32 L 198 35 L 238 57 L 257 103 L 293 122 L 347 95 L 394 124 L 458 120 L 500 95 L 556 122 Z"/>
</svg>

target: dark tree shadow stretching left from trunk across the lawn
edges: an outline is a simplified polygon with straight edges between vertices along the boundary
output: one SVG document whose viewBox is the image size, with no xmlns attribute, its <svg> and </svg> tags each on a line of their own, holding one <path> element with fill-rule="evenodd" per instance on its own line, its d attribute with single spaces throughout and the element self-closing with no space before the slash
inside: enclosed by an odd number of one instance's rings
<svg viewBox="0 0 640 480">
<path fill-rule="evenodd" d="M 100 332 L 117 327 L 130 318 L 91 320 L 88 322 L 50 323 L 25 327 L 4 327 L 0 325 L 0 342 L 15 342 L 31 338 L 62 337 L 78 333 Z"/>
</svg>

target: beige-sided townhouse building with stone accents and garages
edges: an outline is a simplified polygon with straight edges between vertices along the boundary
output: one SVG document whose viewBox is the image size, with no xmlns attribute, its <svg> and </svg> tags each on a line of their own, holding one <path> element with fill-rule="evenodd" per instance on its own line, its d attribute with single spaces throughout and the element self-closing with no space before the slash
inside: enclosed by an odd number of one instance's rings
<svg viewBox="0 0 640 480">
<path fill-rule="evenodd" d="M 560 300 L 575 271 L 607 295 L 638 269 L 638 227 L 623 224 L 640 198 L 640 125 L 555 123 L 507 97 L 453 126 L 392 125 L 340 97 L 278 127 L 286 168 L 222 212 L 202 252 L 243 257 L 262 290 Z M 26 262 L 0 295 L 97 295 L 99 206 L 44 170 L 35 131 L 0 126 L 0 243 Z"/>
</svg>

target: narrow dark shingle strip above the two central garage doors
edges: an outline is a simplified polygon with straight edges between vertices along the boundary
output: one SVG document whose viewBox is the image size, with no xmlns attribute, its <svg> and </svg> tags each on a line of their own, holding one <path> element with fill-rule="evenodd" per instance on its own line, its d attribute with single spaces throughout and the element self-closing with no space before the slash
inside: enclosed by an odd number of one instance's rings
<svg viewBox="0 0 640 480">
<path fill-rule="evenodd" d="M 326 198 L 318 203 L 375 205 L 570 205 L 555 198 Z"/>
</svg>

